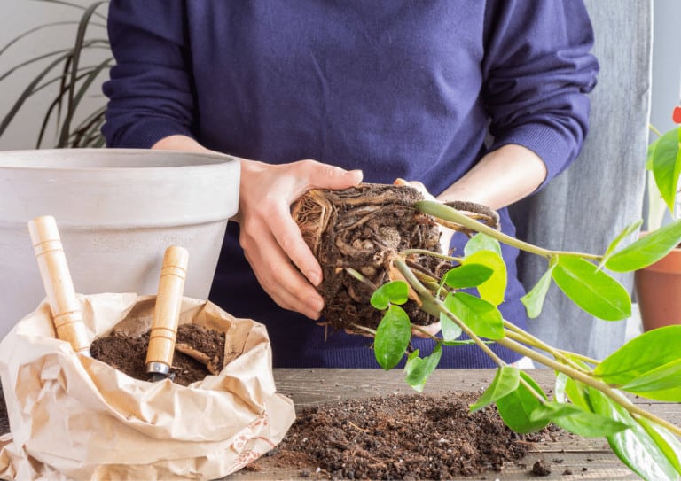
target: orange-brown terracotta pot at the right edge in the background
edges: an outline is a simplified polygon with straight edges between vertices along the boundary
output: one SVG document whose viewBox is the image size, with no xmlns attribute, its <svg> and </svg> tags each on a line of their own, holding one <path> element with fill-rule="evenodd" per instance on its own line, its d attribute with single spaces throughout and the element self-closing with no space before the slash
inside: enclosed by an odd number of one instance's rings
<svg viewBox="0 0 681 481">
<path fill-rule="evenodd" d="M 681 324 L 681 249 L 634 273 L 643 330 Z"/>
</svg>

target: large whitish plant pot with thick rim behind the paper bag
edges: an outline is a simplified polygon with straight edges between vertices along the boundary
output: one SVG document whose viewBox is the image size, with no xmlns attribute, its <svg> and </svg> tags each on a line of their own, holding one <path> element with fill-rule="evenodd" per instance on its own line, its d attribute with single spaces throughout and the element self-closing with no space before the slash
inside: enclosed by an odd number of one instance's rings
<svg viewBox="0 0 681 481">
<path fill-rule="evenodd" d="M 137 149 L 0 151 L 0 339 L 45 297 L 27 222 L 52 215 L 75 291 L 154 294 L 169 245 L 189 251 L 184 295 L 207 299 L 239 160 Z"/>
</svg>

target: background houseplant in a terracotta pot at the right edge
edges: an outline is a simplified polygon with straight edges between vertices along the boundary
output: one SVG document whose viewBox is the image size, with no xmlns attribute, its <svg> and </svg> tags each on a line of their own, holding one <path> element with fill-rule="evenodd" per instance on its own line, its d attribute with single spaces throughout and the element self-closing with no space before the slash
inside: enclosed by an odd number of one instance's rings
<svg viewBox="0 0 681 481">
<path fill-rule="evenodd" d="M 675 108 L 672 117 L 681 124 L 681 107 Z M 651 130 L 658 139 L 650 145 L 646 163 L 649 172 L 648 232 L 661 229 L 665 211 L 672 219 L 672 227 L 665 229 L 674 229 L 673 225 L 678 222 L 677 185 L 681 173 L 681 126 L 664 134 L 653 127 Z M 672 247 L 654 264 L 637 270 L 634 286 L 643 330 L 681 324 L 681 248 Z"/>
</svg>

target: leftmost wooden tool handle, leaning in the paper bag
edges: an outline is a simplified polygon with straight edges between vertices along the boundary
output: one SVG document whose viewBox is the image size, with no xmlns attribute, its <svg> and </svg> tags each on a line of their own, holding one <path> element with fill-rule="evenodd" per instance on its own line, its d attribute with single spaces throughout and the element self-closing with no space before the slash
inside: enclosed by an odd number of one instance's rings
<svg viewBox="0 0 681 481">
<path fill-rule="evenodd" d="M 74 283 L 68 270 L 67 256 L 59 237 L 57 222 L 51 215 L 28 221 L 35 259 L 50 303 L 57 337 L 67 341 L 75 352 L 90 354 L 81 304 L 75 297 Z"/>
</svg>

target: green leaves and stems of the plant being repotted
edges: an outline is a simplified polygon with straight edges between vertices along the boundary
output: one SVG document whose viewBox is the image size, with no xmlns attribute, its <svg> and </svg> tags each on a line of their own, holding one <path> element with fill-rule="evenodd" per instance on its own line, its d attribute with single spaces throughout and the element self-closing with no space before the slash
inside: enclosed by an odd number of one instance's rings
<svg viewBox="0 0 681 481">
<path fill-rule="evenodd" d="M 497 309 L 504 299 L 506 273 L 500 243 L 547 260 L 545 274 L 522 299 L 528 315 L 540 314 L 551 283 L 585 311 L 607 322 L 631 314 L 631 299 L 622 284 L 607 274 L 633 271 L 660 260 L 681 241 L 681 221 L 656 230 L 620 248 L 640 221 L 631 224 L 601 255 L 551 251 L 527 244 L 474 221 L 450 206 L 424 200 L 416 208 L 444 226 L 466 228 L 477 234 L 466 244 L 463 257 L 427 251 L 398 252 L 392 260 L 400 273 L 374 291 L 372 306 L 385 312 L 375 331 L 374 352 L 384 369 L 393 369 L 403 356 L 406 382 L 421 391 L 437 367 L 442 349 L 459 344 L 478 345 L 497 364 L 497 373 L 471 411 L 496 404 L 505 423 L 517 432 L 537 431 L 548 423 L 584 437 L 605 437 L 622 462 L 650 481 L 681 479 L 681 427 L 653 415 L 630 400 L 681 402 L 681 325 L 652 330 L 632 339 L 602 361 L 546 345 L 506 321 Z M 441 279 L 428 278 L 408 265 L 412 254 L 446 257 L 456 267 Z M 463 291 L 475 288 L 479 296 Z M 427 355 L 408 353 L 412 326 L 403 310 L 407 299 L 438 316 L 442 337 L 432 337 Z M 468 337 L 460 339 L 462 334 Z M 495 342 L 528 356 L 556 373 L 552 399 L 528 372 L 514 368 L 489 349 Z M 654 346 L 654 348 L 651 348 Z"/>
</svg>

